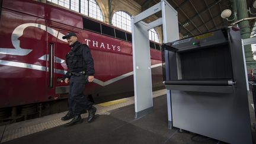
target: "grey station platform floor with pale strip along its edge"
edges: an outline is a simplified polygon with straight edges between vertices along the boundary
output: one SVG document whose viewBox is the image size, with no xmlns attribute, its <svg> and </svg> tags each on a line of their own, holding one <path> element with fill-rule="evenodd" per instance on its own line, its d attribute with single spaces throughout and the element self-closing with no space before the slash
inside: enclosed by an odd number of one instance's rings
<svg viewBox="0 0 256 144">
<path fill-rule="evenodd" d="M 1 143 L 224 143 L 175 127 L 168 129 L 166 90 L 153 92 L 153 111 L 134 119 L 134 97 L 95 105 L 96 119 L 64 127 L 63 113 L 0 127 Z M 249 94 L 251 123 L 255 123 L 252 95 Z M 255 143 L 255 130 L 252 129 Z"/>
</svg>

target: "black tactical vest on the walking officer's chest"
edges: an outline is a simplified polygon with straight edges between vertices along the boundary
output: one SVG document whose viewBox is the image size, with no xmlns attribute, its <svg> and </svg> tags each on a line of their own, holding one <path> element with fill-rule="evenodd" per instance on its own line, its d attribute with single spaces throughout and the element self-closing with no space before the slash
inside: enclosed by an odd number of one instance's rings
<svg viewBox="0 0 256 144">
<path fill-rule="evenodd" d="M 82 56 L 82 44 L 73 47 L 66 55 L 66 65 L 71 72 L 86 71 L 86 63 Z"/>
</svg>

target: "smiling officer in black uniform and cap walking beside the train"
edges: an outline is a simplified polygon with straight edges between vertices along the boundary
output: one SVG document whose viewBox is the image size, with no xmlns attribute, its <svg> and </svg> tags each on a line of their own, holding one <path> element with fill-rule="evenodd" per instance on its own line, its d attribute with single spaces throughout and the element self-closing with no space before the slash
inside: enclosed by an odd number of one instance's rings
<svg viewBox="0 0 256 144">
<path fill-rule="evenodd" d="M 69 83 L 69 111 L 62 120 L 70 120 L 65 126 L 82 123 L 81 113 L 88 110 L 88 123 L 94 119 L 96 108 L 83 94 L 85 84 L 94 81 L 94 60 L 91 51 L 86 44 L 81 44 L 75 33 L 67 33 L 62 39 L 66 39 L 71 51 L 66 55 L 66 65 L 69 71 L 63 77 L 66 84 Z"/>
</svg>

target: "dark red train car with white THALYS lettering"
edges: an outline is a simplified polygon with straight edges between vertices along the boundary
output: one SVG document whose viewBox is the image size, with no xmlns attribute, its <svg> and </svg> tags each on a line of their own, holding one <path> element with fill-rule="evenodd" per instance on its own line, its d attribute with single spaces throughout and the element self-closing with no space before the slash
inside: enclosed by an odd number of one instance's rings
<svg viewBox="0 0 256 144">
<path fill-rule="evenodd" d="M 59 82 L 68 71 L 62 39 L 69 31 L 92 53 L 95 81 L 84 94 L 94 103 L 134 95 L 132 34 L 69 9 L 29 0 L 0 0 L 0 120 L 41 114 L 68 97 Z M 150 41 L 153 90 L 162 84 L 161 47 Z M 52 108 L 56 109 L 56 108 Z"/>
</svg>

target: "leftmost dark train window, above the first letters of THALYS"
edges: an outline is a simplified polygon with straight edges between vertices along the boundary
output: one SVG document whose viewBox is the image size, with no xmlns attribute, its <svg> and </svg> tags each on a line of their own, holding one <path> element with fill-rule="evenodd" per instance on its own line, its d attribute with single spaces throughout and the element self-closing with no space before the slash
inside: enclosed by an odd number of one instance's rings
<svg viewBox="0 0 256 144">
<path fill-rule="evenodd" d="M 89 20 L 88 18 L 83 18 L 84 29 L 95 31 L 101 33 L 101 24 L 96 21 Z"/>
</svg>

